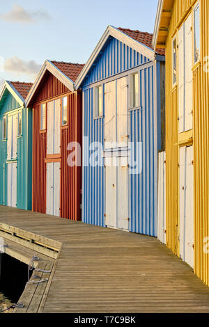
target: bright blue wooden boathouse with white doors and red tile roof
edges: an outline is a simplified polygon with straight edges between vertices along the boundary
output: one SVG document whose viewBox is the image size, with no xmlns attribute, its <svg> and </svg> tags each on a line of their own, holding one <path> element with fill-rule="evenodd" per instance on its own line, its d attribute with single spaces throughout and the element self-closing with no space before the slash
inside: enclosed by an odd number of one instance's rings
<svg viewBox="0 0 209 327">
<path fill-rule="evenodd" d="M 157 236 L 164 50 L 108 26 L 75 83 L 83 92 L 82 220 Z"/>
</svg>

